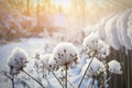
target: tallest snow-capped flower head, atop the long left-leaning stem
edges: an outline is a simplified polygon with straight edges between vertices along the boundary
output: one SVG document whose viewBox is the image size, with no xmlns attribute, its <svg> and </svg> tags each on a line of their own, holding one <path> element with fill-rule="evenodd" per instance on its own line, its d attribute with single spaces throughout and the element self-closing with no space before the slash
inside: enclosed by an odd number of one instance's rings
<svg viewBox="0 0 132 88">
<path fill-rule="evenodd" d="M 84 50 L 87 51 L 87 53 L 97 51 L 98 40 L 99 40 L 99 36 L 96 33 L 91 33 L 90 35 L 85 37 L 84 43 L 82 43 Z"/>
</svg>

